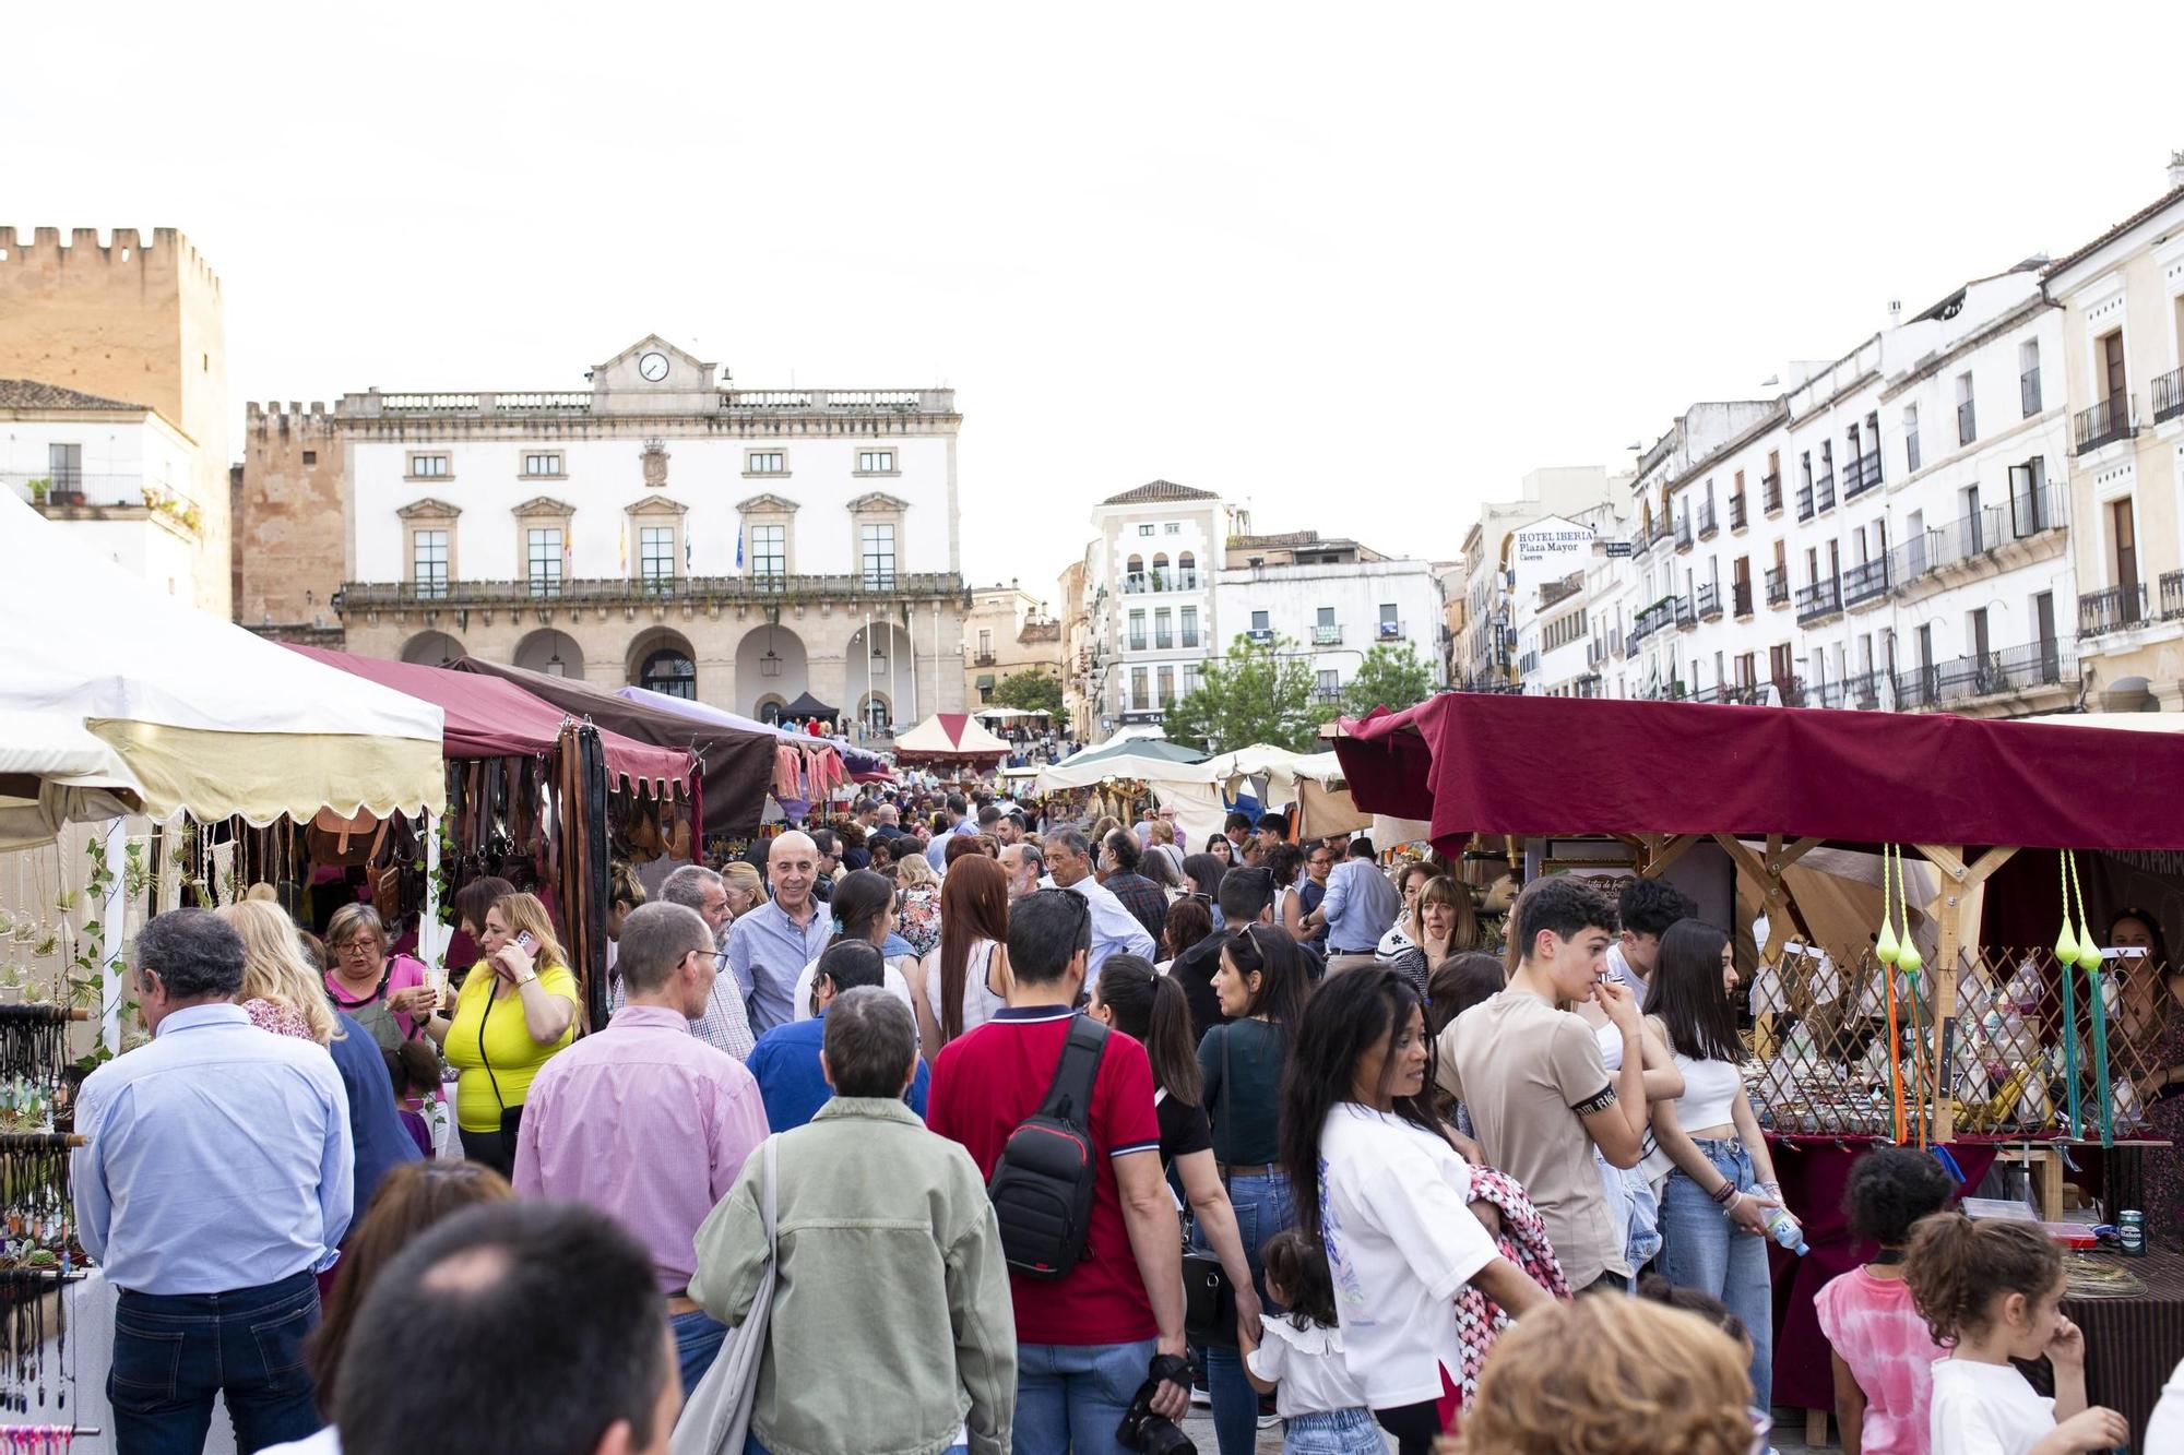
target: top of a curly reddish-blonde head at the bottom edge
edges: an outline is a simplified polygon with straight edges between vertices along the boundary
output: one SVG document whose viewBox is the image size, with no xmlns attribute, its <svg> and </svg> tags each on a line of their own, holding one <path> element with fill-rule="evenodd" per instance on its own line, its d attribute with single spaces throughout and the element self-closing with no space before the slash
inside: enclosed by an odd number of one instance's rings
<svg viewBox="0 0 2184 1455">
<path fill-rule="evenodd" d="M 1749 1455 L 1767 1448 L 1745 1352 L 1697 1313 L 1579 1298 L 1496 1344 L 1444 1455 Z"/>
</svg>

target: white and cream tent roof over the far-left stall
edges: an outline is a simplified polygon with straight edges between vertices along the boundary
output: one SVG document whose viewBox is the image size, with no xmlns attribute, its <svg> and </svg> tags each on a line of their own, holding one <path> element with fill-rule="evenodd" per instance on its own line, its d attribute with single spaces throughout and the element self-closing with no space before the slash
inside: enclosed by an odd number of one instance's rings
<svg viewBox="0 0 2184 1455">
<path fill-rule="evenodd" d="M 0 542 L 0 710 L 85 728 L 146 813 L 266 824 L 446 806 L 432 703 L 155 592 L 9 492 Z"/>
</svg>

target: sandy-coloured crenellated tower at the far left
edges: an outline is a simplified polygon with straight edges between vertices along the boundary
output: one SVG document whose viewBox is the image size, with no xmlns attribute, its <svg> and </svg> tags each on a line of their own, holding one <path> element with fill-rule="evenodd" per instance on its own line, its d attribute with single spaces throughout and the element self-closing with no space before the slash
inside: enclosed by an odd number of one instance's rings
<svg viewBox="0 0 2184 1455">
<path fill-rule="evenodd" d="M 116 227 L 0 227 L 0 378 L 144 404 L 197 446 L 197 605 L 232 616 L 227 326 L 221 280 L 186 236 Z"/>
</svg>

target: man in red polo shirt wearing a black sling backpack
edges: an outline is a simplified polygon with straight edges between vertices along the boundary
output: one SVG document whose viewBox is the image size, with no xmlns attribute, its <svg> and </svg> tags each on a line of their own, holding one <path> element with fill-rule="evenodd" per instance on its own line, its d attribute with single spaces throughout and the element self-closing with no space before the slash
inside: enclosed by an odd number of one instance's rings
<svg viewBox="0 0 2184 1455">
<path fill-rule="evenodd" d="M 1092 950 L 1085 902 L 1040 889 L 1009 909 L 1009 1005 L 933 1062 L 926 1125 L 994 1162 L 1046 1099 Z M 1155 1355 L 1184 1355 L 1184 1269 L 1175 1199 L 1160 1178 L 1160 1123 L 1144 1046 L 1107 1033 L 1092 1081 L 1099 1184 L 1085 1252 L 1068 1276 L 1024 1278 L 1016 1300 L 1016 1448 L 1120 1451 L 1114 1431 Z M 1162 1383 L 1158 1413 L 1179 1420 L 1190 1392 Z"/>
</svg>

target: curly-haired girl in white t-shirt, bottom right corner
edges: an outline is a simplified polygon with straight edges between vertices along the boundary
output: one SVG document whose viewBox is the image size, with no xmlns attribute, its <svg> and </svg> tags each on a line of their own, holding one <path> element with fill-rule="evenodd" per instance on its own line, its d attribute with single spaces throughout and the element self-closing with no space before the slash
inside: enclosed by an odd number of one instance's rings
<svg viewBox="0 0 2184 1455">
<path fill-rule="evenodd" d="M 1904 1252 L 1911 1302 L 1937 1344 L 1928 1422 L 1933 1455 L 2079 1455 L 2129 1444 L 2129 1420 L 2086 1407 L 2086 1335 L 2062 1317 L 2062 1250 L 2031 1223 L 1920 1219 Z M 2011 1359 L 2046 1355 L 2055 1398 Z M 2151 1448 L 2151 1446 L 2149 1446 Z"/>
</svg>

